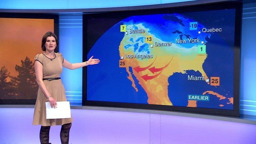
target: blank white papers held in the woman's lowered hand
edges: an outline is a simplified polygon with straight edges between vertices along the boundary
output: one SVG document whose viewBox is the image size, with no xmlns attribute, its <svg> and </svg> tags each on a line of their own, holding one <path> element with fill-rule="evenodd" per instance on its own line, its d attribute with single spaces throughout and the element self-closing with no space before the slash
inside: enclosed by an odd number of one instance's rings
<svg viewBox="0 0 256 144">
<path fill-rule="evenodd" d="M 71 118 L 69 101 L 57 101 L 57 108 L 52 108 L 50 102 L 45 102 L 46 119 Z"/>
</svg>

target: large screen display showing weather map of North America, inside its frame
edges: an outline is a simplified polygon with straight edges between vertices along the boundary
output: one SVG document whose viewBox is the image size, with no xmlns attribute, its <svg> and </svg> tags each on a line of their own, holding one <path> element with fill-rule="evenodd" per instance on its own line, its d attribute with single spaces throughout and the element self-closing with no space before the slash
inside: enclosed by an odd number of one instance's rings
<svg viewBox="0 0 256 144">
<path fill-rule="evenodd" d="M 235 13 L 90 15 L 86 100 L 233 110 Z"/>
</svg>

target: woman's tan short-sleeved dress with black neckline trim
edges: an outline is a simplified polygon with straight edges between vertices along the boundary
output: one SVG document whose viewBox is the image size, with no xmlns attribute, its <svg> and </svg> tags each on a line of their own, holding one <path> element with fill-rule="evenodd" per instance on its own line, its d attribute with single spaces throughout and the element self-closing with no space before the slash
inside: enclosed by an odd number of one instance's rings
<svg viewBox="0 0 256 144">
<path fill-rule="evenodd" d="M 55 78 L 60 77 L 62 72 L 62 63 L 64 58 L 61 53 L 54 53 L 55 58 L 50 59 L 44 54 L 38 54 L 35 56 L 35 60 L 39 61 L 43 65 L 43 78 Z M 59 80 L 44 80 L 43 81 L 50 95 L 56 101 L 67 101 L 65 89 Z M 71 118 L 60 118 L 60 119 L 46 119 L 46 106 L 45 102 L 47 98 L 45 97 L 43 91 L 39 88 L 37 94 L 37 102 L 35 102 L 34 117 L 32 125 L 42 125 L 42 126 L 55 126 L 71 123 Z"/>
</svg>

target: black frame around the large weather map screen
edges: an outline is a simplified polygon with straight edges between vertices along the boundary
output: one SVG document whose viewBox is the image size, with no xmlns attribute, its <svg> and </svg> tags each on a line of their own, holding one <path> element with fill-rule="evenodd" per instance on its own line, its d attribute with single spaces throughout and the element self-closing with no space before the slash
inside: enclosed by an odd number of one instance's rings
<svg viewBox="0 0 256 144">
<path fill-rule="evenodd" d="M 180 8 L 184 9 L 180 9 Z M 200 107 L 183 107 L 183 106 L 168 106 L 168 105 L 154 105 L 154 104 L 139 104 L 139 103 L 125 103 L 125 102 L 106 102 L 106 101 L 90 101 L 87 100 L 87 68 L 83 68 L 83 86 L 82 86 L 82 105 L 83 106 L 105 106 L 105 107 L 124 107 L 135 109 L 153 109 L 162 111 L 176 111 L 186 113 L 200 113 L 211 115 L 225 115 L 225 116 L 239 116 L 240 113 L 240 61 L 241 61 L 241 24 L 242 24 L 242 2 L 219 2 L 212 4 L 191 5 L 191 6 L 179 6 L 175 8 L 160 8 L 160 9 L 145 9 L 135 11 L 118 11 L 118 12 L 104 12 L 94 14 L 83 14 L 83 61 L 86 61 L 87 54 L 90 48 L 87 48 L 87 19 L 94 17 L 110 17 L 114 13 L 119 15 L 145 15 L 143 11 L 151 11 L 157 14 L 159 11 L 171 10 L 170 13 L 182 13 L 182 12 L 198 12 L 198 11 L 210 11 L 210 10 L 222 10 L 222 9 L 236 9 L 235 18 L 235 30 L 234 30 L 234 77 L 233 77 L 233 110 L 223 109 L 210 109 Z M 200 9 L 200 10 L 199 10 Z M 143 14 L 142 14 L 143 13 Z M 148 12 L 148 14 L 151 14 Z"/>
</svg>

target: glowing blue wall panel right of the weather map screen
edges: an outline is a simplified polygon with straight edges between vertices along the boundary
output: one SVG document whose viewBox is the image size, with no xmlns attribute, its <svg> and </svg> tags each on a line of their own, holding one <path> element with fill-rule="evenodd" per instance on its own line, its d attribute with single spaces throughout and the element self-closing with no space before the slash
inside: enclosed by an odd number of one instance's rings
<svg viewBox="0 0 256 144">
<path fill-rule="evenodd" d="M 240 109 L 241 114 L 256 115 L 256 3 L 243 5 L 241 39 Z"/>
</svg>

